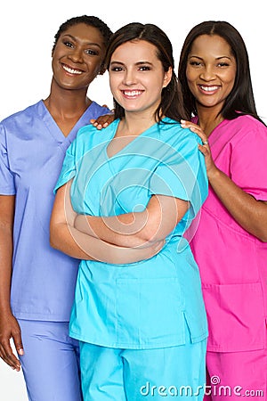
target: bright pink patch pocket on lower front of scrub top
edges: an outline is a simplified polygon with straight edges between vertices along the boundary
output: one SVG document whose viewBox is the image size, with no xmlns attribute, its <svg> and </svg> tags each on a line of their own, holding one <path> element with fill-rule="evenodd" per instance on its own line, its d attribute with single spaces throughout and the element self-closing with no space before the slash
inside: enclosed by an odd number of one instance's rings
<svg viewBox="0 0 267 401">
<path fill-rule="evenodd" d="M 238 352 L 263 349 L 265 318 L 260 282 L 203 284 L 209 337 L 207 350 Z"/>
</svg>

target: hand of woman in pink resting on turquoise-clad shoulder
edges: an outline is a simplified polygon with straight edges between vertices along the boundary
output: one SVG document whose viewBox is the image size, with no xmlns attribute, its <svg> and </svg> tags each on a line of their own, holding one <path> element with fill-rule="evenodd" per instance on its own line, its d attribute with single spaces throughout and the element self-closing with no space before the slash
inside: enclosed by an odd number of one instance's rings
<svg viewBox="0 0 267 401">
<path fill-rule="evenodd" d="M 185 121 L 184 119 L 181 120 L 181 127 L 189 128 L 190 131 L 197 134 L 199 136 L 199 138 L 201 139 L 202 144 L 198 145 L 198 149 L 205 156 L 206 173 L 207 173 L 207 176 L 209 177 L 212 173 L 217 171 L 217 168 L 214 164 L 214 160 L 213 160 L 213 157 L 212 157 L 212 154 L 210 151 L 208 139 L 207 139 L 205 132 L 197 124 L 194 124 L 191 121 Z"/>
</svg>

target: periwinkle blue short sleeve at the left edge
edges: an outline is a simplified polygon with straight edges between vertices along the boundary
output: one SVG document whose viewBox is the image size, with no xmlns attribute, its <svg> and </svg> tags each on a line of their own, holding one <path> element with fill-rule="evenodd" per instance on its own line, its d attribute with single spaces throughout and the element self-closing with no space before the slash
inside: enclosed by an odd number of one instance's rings
<svg viewBox="0 0 267 401">
<path fill-rule="evenodd" d="M 0 124 L 0 193 L 2 195 L 14 195 L 16 193 L 3 124 Z"/>
</svg>

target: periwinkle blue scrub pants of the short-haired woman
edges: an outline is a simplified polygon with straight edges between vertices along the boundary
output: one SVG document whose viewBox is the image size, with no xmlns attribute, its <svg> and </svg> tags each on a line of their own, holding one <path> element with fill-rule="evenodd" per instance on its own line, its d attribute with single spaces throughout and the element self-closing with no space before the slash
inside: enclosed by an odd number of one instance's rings
<svg viewBox="0 0 267 401">
<path fill-rule="evenodd" d="M 77 340 L 68 322 L 19 319 L 20 356 L 29 401 L 82 401 Z"/>
</svg>

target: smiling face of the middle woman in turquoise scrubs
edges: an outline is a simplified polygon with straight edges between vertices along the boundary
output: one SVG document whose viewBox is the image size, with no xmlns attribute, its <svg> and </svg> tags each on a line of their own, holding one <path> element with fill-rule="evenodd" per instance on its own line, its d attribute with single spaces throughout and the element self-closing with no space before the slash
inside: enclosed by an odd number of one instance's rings
<svg viewBox="0 0 267 401">
<path fill-rule="evenodd" d="M 172 69 L 165 72 L 158 60 L 157 47 L 145 40 L 119 45 L 110 59 L 110 89 L 125 113 L 145 111 L 154 116 L 171 77 Z"/>
</svg>

